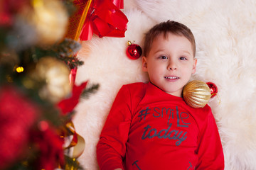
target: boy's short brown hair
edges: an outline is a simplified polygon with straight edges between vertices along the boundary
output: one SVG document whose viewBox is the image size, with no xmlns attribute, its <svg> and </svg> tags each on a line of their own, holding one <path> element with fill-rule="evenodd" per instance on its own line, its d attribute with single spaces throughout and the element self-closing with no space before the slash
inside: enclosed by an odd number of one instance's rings
<svg viewBox="0 0 256 170">
<path fill-rule="evenodd" d="M 182 23 L 178 23 L 176 21 L 166 21 L 157 24 L 153 28 L 146 33 L 144 40 L 144 56 L 146 57 L 149 54 L 151 45 L 154 39 L 159 36 L 161 33 L 164 33 L 164 37 L 166 38 L 168 33 L 173 33 L 175 35 L 181 35 L 186 37 L 192 45 L 193 57 L 196 55 L 196 42 L 191 30 L 183 25 Z"/>
</svg>

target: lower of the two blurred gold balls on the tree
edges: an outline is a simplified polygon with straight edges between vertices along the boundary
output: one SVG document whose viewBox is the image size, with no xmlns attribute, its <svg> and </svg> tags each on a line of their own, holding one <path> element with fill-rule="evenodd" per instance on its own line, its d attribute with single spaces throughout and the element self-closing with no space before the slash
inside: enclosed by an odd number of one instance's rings
<svg viewBox="0 0 256 170">
<path fill-rule="evenodd" d="M 69 74 L 70 69 L 64 62 L 54 57 L 41 58 L 36 64 L 34 76 L 46 81 L 46 85 L 40 89 L 39 96 L 53 103 L 68 96 L 71 92 Z"/>
</svg>

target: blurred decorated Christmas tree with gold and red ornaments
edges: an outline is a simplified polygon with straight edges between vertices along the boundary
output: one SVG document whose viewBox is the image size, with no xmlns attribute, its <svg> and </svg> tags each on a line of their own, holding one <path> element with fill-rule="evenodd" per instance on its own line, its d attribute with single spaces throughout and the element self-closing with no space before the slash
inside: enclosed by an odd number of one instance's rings
<svg viewBox="0 0 256 170">
<path fill-rule="evenodd" d="M 64 38 L 74 11 L 71 0 L 0 0 L 0 169 L 82 169 L 73 109 L 98 86 L 69 79 L 82 64 Z"/>
</svg>

